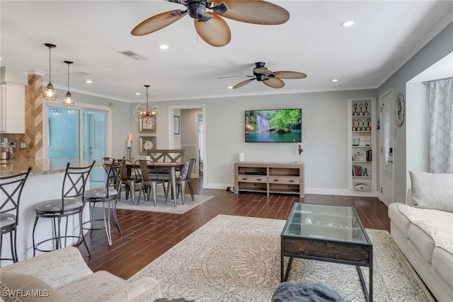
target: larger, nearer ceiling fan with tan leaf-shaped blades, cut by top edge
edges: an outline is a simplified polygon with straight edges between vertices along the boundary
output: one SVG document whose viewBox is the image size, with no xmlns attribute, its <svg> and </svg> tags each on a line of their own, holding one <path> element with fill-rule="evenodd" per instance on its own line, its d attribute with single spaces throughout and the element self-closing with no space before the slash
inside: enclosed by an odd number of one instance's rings
<svg viewBox="0 0 453 302">
<path fill-rule="evenodd" d="M 231 31 L 223 18 L 261 24 L 277 25 L 288 21 L 289 13 L 285 8 L 263 0 L 250 1 L 213 1 L 213 0 L 166 0 L 183 4 L 180 9 L 159 13 L 139 23 L 131 31 L 132 35 L 148 35 L 178 21 L 185 15 L 194 19 L 195 30 L 208 44 L 221 47 L 231 40 Z M 206 11 L 210 9 L 210 11 Z"/>
</svg>

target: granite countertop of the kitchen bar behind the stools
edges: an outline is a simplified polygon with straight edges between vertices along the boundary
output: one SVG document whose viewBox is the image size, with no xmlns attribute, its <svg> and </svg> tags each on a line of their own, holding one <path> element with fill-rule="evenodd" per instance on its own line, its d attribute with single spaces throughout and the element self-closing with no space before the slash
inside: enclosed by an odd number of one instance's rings
<svg viewBox="0 0 453 302">
<path fill-rule="evenodd" d="M 68 162 L 73 167 L 84 167 L 92 163 L 88 159 L 5 159 L 0 160 L 0 177 L 26 172 L 30 165 L 33 167 L 30 175 L 63 173 Z M 101 161 L 96 161 L 95 166 L 98 165 L 102 165 Z"/>
</svg>

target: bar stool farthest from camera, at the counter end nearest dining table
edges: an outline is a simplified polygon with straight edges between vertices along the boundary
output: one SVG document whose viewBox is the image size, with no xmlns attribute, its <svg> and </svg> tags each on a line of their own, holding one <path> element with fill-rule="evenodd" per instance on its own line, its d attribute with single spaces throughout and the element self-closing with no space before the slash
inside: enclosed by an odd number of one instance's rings
<svg viewBox="0 0 453 302">
<path fill-rule="evenodd" d="M 112 236 L 110 233 L 110 208 L 113 211 L 113 221 L 118 229 L 120 235 L 122 235 L 120 223 L 118 223 L 116 215 L 116 204 L 120 199 L 120 187 L 122 186 L 122 178 L 120 174 L 122 163 L 118 161 L 112 161 L 110 163 L 104 163 L 105 168 L 105 187 L 86 190 L 84 195 L 84 202 L 88 202 L 90 208 L 90 221 L 86 221 L 83 224 L 90 224 L 90 226 L 84 226 L 84 230 L 90 231 L 90 237 L 93 237 L 93 231 L 105 229 L 105 235 L 107 236 L 108 246 L 112 245 Z M 95 218 L 96 204 L 102 204 L 103 219 Z M 104 221 L 103 227 L 95 226 L 96 221 Z"/>
</svg>

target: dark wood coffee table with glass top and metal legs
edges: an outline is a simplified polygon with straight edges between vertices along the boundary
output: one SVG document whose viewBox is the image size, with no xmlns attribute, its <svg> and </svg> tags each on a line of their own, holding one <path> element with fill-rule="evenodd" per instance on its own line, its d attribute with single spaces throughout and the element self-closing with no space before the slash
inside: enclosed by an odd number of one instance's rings
<svg viewBox="0 0 453 302">
<path fill-rule="evenodd" d="M 355 265 L 367 301 L 373 299 L 373 245 L 353 207 L 295 203 L 281 234 L 281 281 L 294 258 Z M 285 257 L 289 262 L 285 272 Z M 369 290 L 361 267 L 369 267 Z"/>
</svg>

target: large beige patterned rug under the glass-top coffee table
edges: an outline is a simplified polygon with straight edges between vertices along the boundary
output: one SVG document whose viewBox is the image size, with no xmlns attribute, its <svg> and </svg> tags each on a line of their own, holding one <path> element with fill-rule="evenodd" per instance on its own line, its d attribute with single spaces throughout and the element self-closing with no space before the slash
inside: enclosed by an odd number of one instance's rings
<svg viewBox="0 0 453 302">
<path fill-rule="evenodd" d="M 280 284 L 280 233 L 285 221 L 219 215 L 131 279 L 155 277 L 165 298 L 270 301 Z M 374 301 L 435 301 L 387 231 L 373 242 Z M 362 268 L 365 277 L 368 269 Z M 366 301 L 352 265 L 294 259 L 288 281 L 321 283 L 346 301 Z"/>
</svg>

